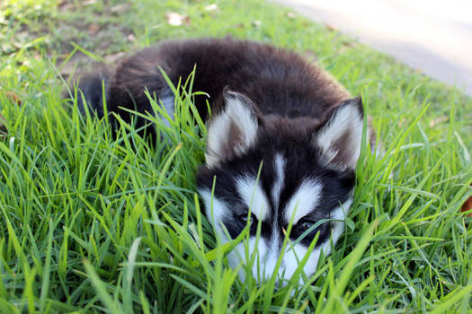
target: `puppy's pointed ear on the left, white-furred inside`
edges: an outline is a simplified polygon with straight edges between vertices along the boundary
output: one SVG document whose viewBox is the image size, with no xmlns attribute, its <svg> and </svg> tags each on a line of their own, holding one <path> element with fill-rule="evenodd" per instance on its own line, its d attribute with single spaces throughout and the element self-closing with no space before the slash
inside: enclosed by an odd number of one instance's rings
<svg viewBox="0 0 472 314">
<path fill-rule="evenodd" d="M 259 128 L 256 109 L 251 100 L 238 92 L 223 92 L 223 109 L 209 120 L 207 153 L 209 167 L 244 153 L 254 144 Z"/>
</svg>

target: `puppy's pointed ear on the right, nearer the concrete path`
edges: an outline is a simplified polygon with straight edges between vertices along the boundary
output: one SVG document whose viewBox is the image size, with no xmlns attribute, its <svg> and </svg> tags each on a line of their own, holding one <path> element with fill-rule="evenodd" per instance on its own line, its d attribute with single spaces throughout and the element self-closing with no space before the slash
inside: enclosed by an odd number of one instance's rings
<svg viewBox="0 0 472 314">
<path fill-rule="evenodd" d="M 322 162 L 338 170 L 355 170 L 361 154 L 363 118 L 361 98 L 346 100 L 333 109 L 314 135 Z"/>
</svg>

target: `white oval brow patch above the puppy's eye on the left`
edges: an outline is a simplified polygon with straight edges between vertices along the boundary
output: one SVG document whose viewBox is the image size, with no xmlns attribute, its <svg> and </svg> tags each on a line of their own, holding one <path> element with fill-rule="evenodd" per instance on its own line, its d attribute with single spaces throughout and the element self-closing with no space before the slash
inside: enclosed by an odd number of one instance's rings
<svg viewBox="0 0 472 314">
<path fill-rule="evenodd" d="M 252 177 L 236 179 L 236 189 L 255 217 L 263 221 L 269 214 L 269 202 L 260 184 Z"/>
</svg>

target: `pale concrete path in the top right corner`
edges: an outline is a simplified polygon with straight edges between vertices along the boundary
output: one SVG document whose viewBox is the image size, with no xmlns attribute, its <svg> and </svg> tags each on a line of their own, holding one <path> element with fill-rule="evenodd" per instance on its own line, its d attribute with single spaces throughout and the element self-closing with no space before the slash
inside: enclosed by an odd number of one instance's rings
<svg viewBox="0 0 472 314">
<path fill-rule="evenodd" d="M 470 0 L 272 0 L 472 96 Z"/>
</svg>

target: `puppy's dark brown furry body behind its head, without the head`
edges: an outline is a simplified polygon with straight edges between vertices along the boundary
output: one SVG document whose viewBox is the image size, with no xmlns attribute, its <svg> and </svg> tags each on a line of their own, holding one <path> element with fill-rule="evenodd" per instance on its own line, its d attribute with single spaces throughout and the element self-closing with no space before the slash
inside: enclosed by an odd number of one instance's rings
<svg viewBox="0 0 472 314">
<path fill-rule="evenodd" d="M 298 54 L 231 39 L 164 41 L 124 59 L 114 72 L 102 72 L 98 78 L 106 80 L 108 109 L 128 118 L 128 111 L 119 107 L 133 109 L 136 103 L 139 111 L 152 112 L 144 86 L 161 99 L 173 96 L 159 66 L 176 84 L 194 65 L 193 91 L 208 93 L 212 107 L 217 107 L 225 87 L 256 101 L 263 115 L 286 118 L 324 118 L 329 109 L 351 98 L 328 74 L 308 65 Z M 98 101 L 89 102 L 100 109 L 102 91 L 96 91 Z M 206 99 L 196 99 L 204 120 Z"/>
</svg>

